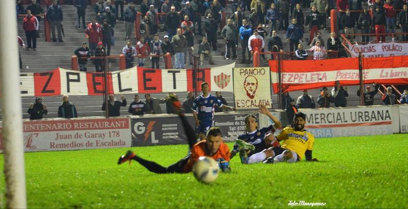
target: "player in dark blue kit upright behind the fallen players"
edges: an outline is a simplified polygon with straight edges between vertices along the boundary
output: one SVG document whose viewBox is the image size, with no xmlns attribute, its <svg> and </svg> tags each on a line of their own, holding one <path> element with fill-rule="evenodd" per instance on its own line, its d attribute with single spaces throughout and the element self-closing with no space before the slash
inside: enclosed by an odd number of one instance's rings
<svg viewBox="0 0 408 209">
<path fill-rule="evenodd" d="M 195 98 L 193 102 L 193 116 L 195 120 L 195 133 L 198 135 L 206 134 L 213 126 L 214 122 L 214 106 L 224 110 L 235 110 L 234 107 L 223 105 L 221 100 L 216 96 L 210 95 L 207 82 L 201 83 L 202 95 Z"/>
</svg>

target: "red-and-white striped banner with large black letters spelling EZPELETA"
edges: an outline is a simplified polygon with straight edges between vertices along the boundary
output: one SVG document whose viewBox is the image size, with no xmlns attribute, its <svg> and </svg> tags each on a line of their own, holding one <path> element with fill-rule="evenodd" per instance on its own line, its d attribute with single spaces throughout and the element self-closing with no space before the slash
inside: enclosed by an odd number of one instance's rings
<svg viewBox="0 0 408 209">
<path fill-rule="evenodd" d="M 197 89 L 209 83 L 210 90 L 232 92 L 233 64 L 198 69 Z M 213 84 L 213 85 L 212 85 Z M 109 93 L 161 93 L 193 90 L 192 69 L 152 69 L 132 67 L 108 73 Z M 102 95 L 105 89 L 103 73 L 86 73 L 57 68 L 45 73 L 20 74 L 22 96 Z"/>
</svg>

